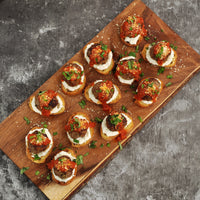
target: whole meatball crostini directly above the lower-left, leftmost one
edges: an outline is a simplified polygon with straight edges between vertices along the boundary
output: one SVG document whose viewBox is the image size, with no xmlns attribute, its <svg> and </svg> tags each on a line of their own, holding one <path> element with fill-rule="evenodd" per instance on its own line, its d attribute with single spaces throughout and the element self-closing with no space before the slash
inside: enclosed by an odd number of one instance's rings
<svg viewBox="0 0 200 200">
<path fill-rule="evenodd" d="M 40 91 L 36 96 L 32 95 L 29 100 L 29 107 L 32 111 L 43 115 L 58 115 L 65 111 L 65 101 L 63 97 L 53 91 Z"/>
</svg>

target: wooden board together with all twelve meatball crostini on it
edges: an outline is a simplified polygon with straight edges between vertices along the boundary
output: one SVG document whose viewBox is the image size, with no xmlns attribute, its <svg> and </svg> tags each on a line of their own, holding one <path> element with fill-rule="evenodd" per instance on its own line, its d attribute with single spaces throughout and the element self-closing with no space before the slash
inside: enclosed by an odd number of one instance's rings
<svg viewBox="0 0 200 200">
<path fill-rule="evenodd" d="M 2 122 L 0 147 L 48 198 L 65 199 L 123 149 L 199 63 L 136 0 Z"/>
</svg>

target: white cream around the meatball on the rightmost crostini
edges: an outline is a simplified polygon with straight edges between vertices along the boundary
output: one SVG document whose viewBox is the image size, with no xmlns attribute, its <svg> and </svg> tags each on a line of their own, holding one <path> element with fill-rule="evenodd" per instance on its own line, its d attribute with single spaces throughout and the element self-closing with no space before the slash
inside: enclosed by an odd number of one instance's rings
<svg viewBox="0 0 200 200">
<path fill-rule="evenodd" d="M 146 50 L 146 59 L 148 60 L 149 63 L 151 63 L 152 65 L 157 65 L 157 66 L 160 66 L 157 62 L 157 60 L 153 59 L 150 55 L 150 50 L 153 46 L 150 44 L 148 49 Z M 171 48 L 171 53 L 170 55 L 168 56 L 167 60 L 162 64 L 162 66 L 168 66 L 171 64 L 171 62 L 173 61 L 173 58 L 174 58 L 174 51 L 173 49 Z"/>
</svg>

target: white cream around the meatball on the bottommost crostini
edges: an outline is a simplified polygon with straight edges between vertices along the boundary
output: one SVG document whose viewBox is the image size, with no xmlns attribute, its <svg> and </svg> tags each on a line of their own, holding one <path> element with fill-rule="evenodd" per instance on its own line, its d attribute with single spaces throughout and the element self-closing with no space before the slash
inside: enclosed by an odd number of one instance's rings
<svg viewBox="0 0 200 200">
<path fill-rule="evenodd" d="M 62 157 L 62 156 L 67 156 L 67 157 L 69 157 L 69 158 L 71 159 L 71 161 L 73 161 L 73 160 L 76 159 L 76 158 L 75 158 L 74 156 L 72 156 L 70 153 L 68 153 L 68 152 L 66 152 L 66 151 L 61 151 L 61 152 L 59 152 L 58 154 L 56 154 L 56 155 L 54 156 L 54 160 L 57 160 L 58 158 L 60 158 L 60 157 Z M 57 176 L 57 175 L 55 174 L 55 172 L 54 172 L 54 168 L 52 169 L 52 174 L 54 175 L 55 179 L 58 180 L 59 182 L 64 182 L 64 183 L 66 183 L 66 182 L 70 181 L 70 180 L 74 177 L 74 175 L 75 175 L 75 169 L 73 169 L 72 175 L 71 175 L 70 177 L 68 177 L 68 178 L 63 178 L 63 179 L 62 179 L 62 178 L 60 178 L 59 176 Z"/>
</svg>

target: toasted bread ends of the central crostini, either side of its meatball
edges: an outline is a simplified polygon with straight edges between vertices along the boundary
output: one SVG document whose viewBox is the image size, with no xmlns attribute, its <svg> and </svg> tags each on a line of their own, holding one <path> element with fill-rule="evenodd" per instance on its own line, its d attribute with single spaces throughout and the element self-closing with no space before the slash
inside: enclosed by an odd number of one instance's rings
<svg viewBox="0 0 200 200">
<path fill-rule="evenodd" d="M 98 105 L 99 105 L 99 104 L 102 104 L 102 102 L 99 101 L 98 99 L 97 99 L 96 102 L 94 102 L 94 101 L 90 98 L 89 90 L 91 89 L 91 87 L 93 87 L 93 84 L 94 84 L 94 83 L 91 83 L 91 84 L 89 84 L 89 85 L 85 88 L 84 96 L 85 96 L 85 98 L 86 98 L 88 101 L 90 101 L 90 102 L 92 102 L 92 103 L 96 103 L 96 104 L 98 104 Z M 113 86 L 114 86 L 115 89 L 116 89 L 116 91 L 114 91 L 114 92 L 117 92 L 117 96 L 116 96 L 116 98 L 114 98 L 112 101 L 110 101 L 110 102 L 107 103 L 107 104 L 114 104 L 114 103 L 117 103 L 117 102 L 121 99 L 121 91 L 120 91 L 120 89 L 119 89 L 118 86 L 115 85 L 115 84 L 113 84 Z M 114 94 L 113 94 L 113 95 L 114 95 Z"/>
</svg>

